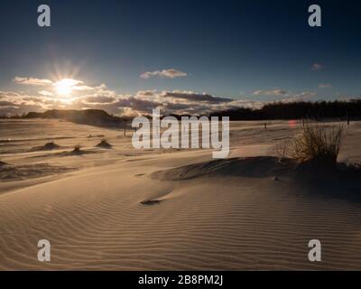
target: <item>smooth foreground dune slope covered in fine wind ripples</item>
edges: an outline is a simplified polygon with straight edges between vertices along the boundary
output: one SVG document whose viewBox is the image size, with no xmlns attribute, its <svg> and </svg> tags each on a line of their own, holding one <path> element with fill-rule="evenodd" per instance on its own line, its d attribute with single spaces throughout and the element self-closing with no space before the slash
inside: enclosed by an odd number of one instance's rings
<svg viewBox="0 0 361 289">
<path fill-rule="evenodd" d="M 289 191 L 268 178 L 174 185 L 129 171 L 36 185 L 0 196 L 0 269 L 361 269 L 360 204 Z M 152 198 L 162 201 L 140 203 Z M 321 263 L 308 261 L 311 238 Z"/>
</svg>

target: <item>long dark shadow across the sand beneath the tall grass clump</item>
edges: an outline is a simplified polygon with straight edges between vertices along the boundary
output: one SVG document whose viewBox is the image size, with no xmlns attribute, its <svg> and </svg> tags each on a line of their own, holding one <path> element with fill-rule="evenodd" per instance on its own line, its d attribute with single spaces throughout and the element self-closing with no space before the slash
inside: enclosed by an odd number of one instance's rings
<svg viewBox="0 0 361 289">
<path fill-rule="evenodd" d="M 205 177 L 270 178 L 287 180 L 292 191 L 312 196 L 361 202 L 361 167 L 338 163 L 334 167 L 297 163 L 290 158 L 257 156 L 213 160 L 153 172 L 160 181 L 186 181 Z"/>
</svg>

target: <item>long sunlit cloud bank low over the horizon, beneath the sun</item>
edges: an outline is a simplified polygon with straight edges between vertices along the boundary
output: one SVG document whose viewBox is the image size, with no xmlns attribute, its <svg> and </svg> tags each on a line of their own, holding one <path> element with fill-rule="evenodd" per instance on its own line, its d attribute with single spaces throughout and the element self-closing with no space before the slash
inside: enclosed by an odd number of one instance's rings
<svg viewBox="0 0 361 289">
<path fill-rule="evenodd" d="M 47 109 L 103 109 L 115 115 L 129 117 L 152 114 L 153 108 L 159 107 L 163 115 L 190 114 L 204 115 L 214 111 L 236 107 L 262 107 L 265 102 L 253 100 L 234 100 L 219 98 L 207 93 L 193 91 L 140 90 L 133 95 L 116 95 L 106 86 L 96 87 L 93 94 L 75 97 L 72 101 L 54 98 L 47 95 L 27 95 L 15 92 L 0 91 L 0 115 L 21 115 L 30 111 Z M 47 91 L 47 90 L 44 90 Z M 101 91 L 109 91 L 114 95 L 100 95 Z M 46 94 L 46 93 L 45 93 Z"/>
</svg>

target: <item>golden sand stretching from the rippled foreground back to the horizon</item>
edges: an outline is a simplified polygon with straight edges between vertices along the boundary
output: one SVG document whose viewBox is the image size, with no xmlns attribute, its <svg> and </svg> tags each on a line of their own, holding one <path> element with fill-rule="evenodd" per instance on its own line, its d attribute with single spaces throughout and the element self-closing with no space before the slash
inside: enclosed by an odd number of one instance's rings
<svg viewBox="0 0 361 289">
<path fill-rule="evenodd" d="M 135 150 L 122 128 L 0 120 L 0 269 L 360 270 L 360 185 L 307 184 L 280 162 L 297 126 L 232 123 L 229 158 L 212 160 Z M 361 163 L 360 145 L 355 122 L 338 161 Z M 310 263 L 315 238 L 322 262 Z M 51 262 L 37 259 L 40 239 Z"/>
</svg>

